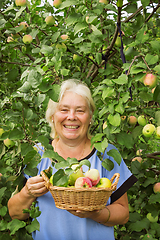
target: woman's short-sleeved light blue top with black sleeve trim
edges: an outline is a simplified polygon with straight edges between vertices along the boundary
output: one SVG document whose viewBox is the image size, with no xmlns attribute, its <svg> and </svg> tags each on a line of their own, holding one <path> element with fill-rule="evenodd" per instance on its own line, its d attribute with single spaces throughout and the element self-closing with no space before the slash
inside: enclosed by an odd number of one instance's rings
<svg viewBox="0 0 160 240">
<path fill-rule="evenodd" d="M 43 155 L 39 150 L 40 155 Z M 107 151 L 116 149 L 113 145 L 109 144 Z M 112 171 L 107 171 L 102 167 L 101 161 L 97 156 L 97 150 L 93 149 L 92 152 L 85 157 L 91 163 L 91 168 L 99 170 L 100 177 L 107 177 L 111 179 L 114 173 L 120 173 L 120 179 L 117 185 L 117 190 L 112 193 L 107 205 L 120 198 L 136 181 L 137 179 L 129 171 L 123 159 L 120 166 L 114 159 L 104 154 L 104 159 L 109 158 L 114 162 Z M 42 170 L 51 166 L 49 158 L 42 158 L 38 164 L 38 174 Z M 88 170 L 87 166 L 83 166 L 83 171 Z M 53 174 L 57 170 L 53 168 Z M 26 176 L 28 178 L 28 176 Z M 67 210 L 58 209 L 55 206 L 54 199 L 50 192 L 37 198 L 39 210 L 41 215 L 37 218 L 40 223 L 40 231 L 33 233 L 34 240 L 114 240 L 114 227 L 107 227 L 97 223 L 89 218 L 79 218 L 69 213 Z"/>
</svg>

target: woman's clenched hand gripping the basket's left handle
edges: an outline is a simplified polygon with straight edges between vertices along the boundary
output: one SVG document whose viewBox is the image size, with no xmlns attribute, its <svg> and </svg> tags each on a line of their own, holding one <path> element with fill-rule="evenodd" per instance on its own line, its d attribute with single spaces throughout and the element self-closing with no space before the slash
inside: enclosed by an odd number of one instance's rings
<svg viewBox="0 0 160 240">
<path fill-rule="evenodd" d="M 27 180 L 25 188 L 32 198 L 37 198 L 47 193 L 48 190 L 44 185 L 45 181 L 40 176 L 31 177 Z"/>
</svg>

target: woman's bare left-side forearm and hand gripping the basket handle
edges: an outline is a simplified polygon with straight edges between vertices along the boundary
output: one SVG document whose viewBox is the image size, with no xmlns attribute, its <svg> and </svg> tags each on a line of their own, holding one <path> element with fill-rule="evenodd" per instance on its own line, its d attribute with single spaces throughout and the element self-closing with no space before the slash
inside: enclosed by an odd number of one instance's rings
<svg viewBox="0 0 160 240">
<path fill-rule="evenodd" d="M 8 201 L 8 209 L 11 218 L 17 218 L 19 220 L 27 219 L 28 214 L 23 213 L 23 209 L 29 209 L 32 202 L 47 191 L 42 177 L 36 176 L 29 178 L 22 190 Z"/>
</svg>

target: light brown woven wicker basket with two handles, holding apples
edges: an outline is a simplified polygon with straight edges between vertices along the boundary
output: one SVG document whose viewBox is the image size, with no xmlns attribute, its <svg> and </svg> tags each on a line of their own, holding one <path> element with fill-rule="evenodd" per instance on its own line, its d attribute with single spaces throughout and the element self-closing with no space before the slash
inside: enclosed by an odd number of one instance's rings
<svg viewBox="0 0 160 240">
<path fill-rule="evenodd" d="M 45 180 L 45 186 L 54 198 L 57 208 L 83 211 L 103 209 L 112 192 L 116 190 L 120 177 L 119 173 L 113 175 L 110 180 L 112 183 L 110 188 L 72 188 L 53 186 L 43 171 L 41 175 Z"/>
</svg>

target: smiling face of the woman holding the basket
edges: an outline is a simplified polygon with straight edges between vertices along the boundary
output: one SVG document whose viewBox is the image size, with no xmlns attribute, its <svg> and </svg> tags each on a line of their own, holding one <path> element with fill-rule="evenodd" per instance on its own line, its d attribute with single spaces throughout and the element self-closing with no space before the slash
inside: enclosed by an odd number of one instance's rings
<svg viewBox="0 0 160 240">
<path fill-rule="evenodd" d="M 68 140 L 85 138 L 91 117 L 85 98 L 74 92 L 66 92 L 53 115 L 59 138 Z"/>
</svg>

